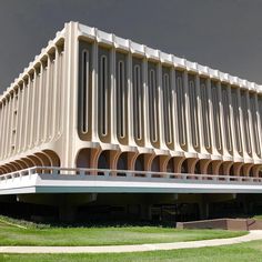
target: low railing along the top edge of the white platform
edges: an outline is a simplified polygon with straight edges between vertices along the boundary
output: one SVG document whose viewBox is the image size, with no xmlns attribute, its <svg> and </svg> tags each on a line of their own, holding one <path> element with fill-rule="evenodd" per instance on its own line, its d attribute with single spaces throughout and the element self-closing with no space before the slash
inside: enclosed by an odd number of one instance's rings
<svg viewBox="0 0 262 262">
<path fill-rule="evenodd" d="M 140 181 L 158 181 L 158 182 L 221 182 L 221 183 L 255 183 L 262 184 L 262 178 L 252 177 L 234 177 L 234 175 L 215 175 L 215 174 L 190 174 L 190 173 L 170 173 L 153 171 L 134 171 L 134 170 L 109 170 L 109 169 L 69 169 L 57 167 L 33 167 L 7 174 L 0 175 L 0 183 L 16 178 L 30 177 L 32 174 L 51 174 L 58 178 L 64 175 L 77 175 L 82 179 L 102 179 L 104 180 L 140 180 Z"/>
</svg>

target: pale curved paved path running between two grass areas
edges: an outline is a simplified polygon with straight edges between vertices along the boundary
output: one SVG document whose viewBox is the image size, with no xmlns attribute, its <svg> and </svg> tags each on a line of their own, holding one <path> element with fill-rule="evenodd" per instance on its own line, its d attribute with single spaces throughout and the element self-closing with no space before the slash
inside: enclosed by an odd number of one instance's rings
<svg viewBox="0 0 262 262">
<path fill-rule="evenodd" d="M 155 250 L 195 249 L 225 244 L 238 244 L 262 240 L 262 230 L 231 239 L 214 239 L 161 244 L 103 245 L 103 246 L 0 246 L 0 253 L 121 253 Z"/>
</svg>

